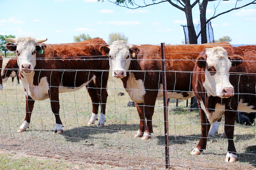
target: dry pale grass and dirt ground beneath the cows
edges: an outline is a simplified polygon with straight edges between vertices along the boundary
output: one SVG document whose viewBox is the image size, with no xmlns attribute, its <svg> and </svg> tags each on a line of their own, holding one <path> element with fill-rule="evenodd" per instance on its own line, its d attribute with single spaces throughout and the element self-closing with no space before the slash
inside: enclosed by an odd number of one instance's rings
<svg viewBox="0 0 256 170">
<path fill-rule="evenodd" d="M 4 58 L 4 63 L 7 59 Z M 5 66 L 5 64 L 3 64 Z M 85 88 L 60 94 L 61 135 L 54 135 L 55 118 L 49 99 L 36 101 L 29 130 L 16 130 L 25 118 L 25 97 L 16 79 L 9 79 L 0 91 L 0 169 L 164 169 L 163 100 L 157 99 L 153 116 L 152 138 L 133 137 L 139 128 L 135 107 L 121 80 L 109 78 L 105 127 L 88 126 L 91 100 Z M 125 95 L 118 96 L 119 92 Z M 171 100 L 168 107 L 170 163 L 174 169 L 253 169 L 256 167 L 255 128 L 235 124 L 236 163 L 225 163 L 227 140 L 221 139 L 224 125 L 216 138 L 209 138 L 207 150 L 190 155 L 200 139 L 198 111 L 191 111 L 186 101 Z M 97 121 L 96 121 L 97 123 Z M 39 160 L 38 160 L 39 159 Z M 8 160 L 9 163 L 5 163 Z M 2 166 L 3 165 L 3 166 Z M 4 167 L 4 168 L 2 168 Z M 179 168 L 182 167 L 182 168 Z"/>
</svg>

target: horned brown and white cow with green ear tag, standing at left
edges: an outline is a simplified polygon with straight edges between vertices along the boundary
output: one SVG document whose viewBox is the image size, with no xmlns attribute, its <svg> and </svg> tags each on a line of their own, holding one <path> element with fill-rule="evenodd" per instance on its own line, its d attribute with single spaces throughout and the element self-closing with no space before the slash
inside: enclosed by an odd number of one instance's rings
<svg viewBox="0 0 256 170">
<path fill-rule="evenodd" d="M 92 99 L 92 117 L 88 124 L 97 119 L 99 105 L 101 115 L 98 126 L 105 124 L 105 109 L 108 97 L 107 81 L 109 63 L 102 56 L 99 46 L 106 44 L 101 38 L 69 44 L 39 44 L 45 40 L 32 37 L 6 38 L 6 47 L 16 51 L 20 82 L 25 88 L 26 117 L 19 132 L 29 128 L 35 100 L 50 99 L 55 115 L 54 132 L 63 132 L 59 117 L 58 93 L 78 90 L 86 86 Z M 104 60 L 105 59 L 105 60 Z"/>
</svg>

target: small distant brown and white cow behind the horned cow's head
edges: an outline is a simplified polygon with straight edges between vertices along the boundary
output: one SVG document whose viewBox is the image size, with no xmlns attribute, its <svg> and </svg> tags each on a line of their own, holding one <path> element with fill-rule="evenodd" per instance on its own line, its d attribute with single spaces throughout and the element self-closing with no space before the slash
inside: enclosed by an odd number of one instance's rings
<svg viewBox="0 0 256 170">
<path fill-rule="evenodd" d="M 13 57 L 7 62 L 6 66 L 4 67 L 3 73 L 1 74 L 3 83 L 7 82 L 9 77 L 11 77 L 12 84 L 13 84 L 15 77 L 17 77 L 18 83 L 20 83 L 19 76 L 18 76 L 18 70 L 19 70 L 19 66 L 17 63 L 17 58 Z"/>
</svg>

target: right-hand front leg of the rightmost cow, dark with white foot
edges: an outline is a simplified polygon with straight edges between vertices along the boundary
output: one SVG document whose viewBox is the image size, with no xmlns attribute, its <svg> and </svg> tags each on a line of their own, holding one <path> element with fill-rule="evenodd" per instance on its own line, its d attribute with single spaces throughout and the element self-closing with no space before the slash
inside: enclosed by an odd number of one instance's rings
<svg viewBox="0 0 256 170">
<path fill-rule="evenodd" d="M 227 135 L 228 147 L 227 155 L 225 158 L 226 162 L 236 161 L 236 148 L 234 144 L 234 124 L 236 120 L 236 113 L 231 111 L 225 111 L 225 133 Z"/>
</svg>

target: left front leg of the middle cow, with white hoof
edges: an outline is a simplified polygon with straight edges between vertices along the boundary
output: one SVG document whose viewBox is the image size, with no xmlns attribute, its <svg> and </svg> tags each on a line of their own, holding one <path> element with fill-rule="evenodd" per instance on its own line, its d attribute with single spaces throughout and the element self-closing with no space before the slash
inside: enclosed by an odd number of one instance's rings
<svg viewBox="0 0 256 170">
<path fill-rule="evenodd" d="M 135 103 L 138 114 L 139 114 L 139 130 L 134 137 L 142 137 L 145 131 L 146 119 L 143 112 L 144 103 Z"/>
</svg>

